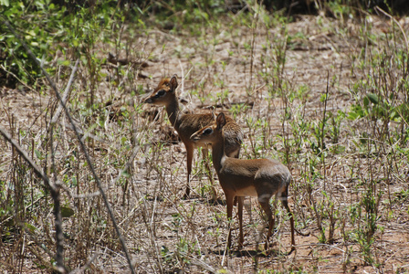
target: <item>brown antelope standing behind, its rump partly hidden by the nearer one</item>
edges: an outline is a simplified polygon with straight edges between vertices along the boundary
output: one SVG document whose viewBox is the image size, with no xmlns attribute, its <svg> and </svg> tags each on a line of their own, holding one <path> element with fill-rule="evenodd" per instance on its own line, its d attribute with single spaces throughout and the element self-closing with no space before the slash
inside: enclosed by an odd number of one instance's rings
<svg viewBox="0 0 409 274">
<path fill-rule="evenodd" d="M 152 94 L 144 100 L 145 103 L 151 103 L 158 106 L 164 106 L 168 113 L 169 121 L 171 121 L 173 128 L 178 132 L 179 137 L 187 152 L 187 186 L 184 197 L 190 194 L 190 174 L 192 172 L 192 160 L 194 157 L 194 148 L 202 147 L 203 156 L 207 159 L 208 144 L 205 142 L 193 142 L 190 136 L 202 129 L 208 124 L 215 121 L 213 113 L 205 114 L 185 114 L 179 108 L 179 102 L 176 94 L 178 86 L 177 76 L 173 75 L 171 79 L 162 79 L 158 87 L 153 90 Z M 238 157 L 240 153 L 240 146 L 243 142 L 243 133 L 240 126 L 236 124 L 231 118 L 225 119 L 225 153 L 230 157 Z M 210 166 L 206 162 L 206 168 L 210 174 L 212 182 L 213 195 L 215 195 L 215 185 L 213 184 L 213 177 L 211 175 Z"/>
</svg>

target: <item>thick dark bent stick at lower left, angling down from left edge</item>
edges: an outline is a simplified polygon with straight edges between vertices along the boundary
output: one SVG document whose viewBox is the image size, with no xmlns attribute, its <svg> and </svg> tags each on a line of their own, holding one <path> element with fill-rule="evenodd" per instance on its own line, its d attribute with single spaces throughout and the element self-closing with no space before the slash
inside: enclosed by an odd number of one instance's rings
<svg viewBox="0 0 409 274">
<path fill-rule="evenodd" d="M 10 142 L 13 147 L 15 147 L 16 151 L 26 160 L 26 162 L 31 165 L 34 169 L 36 174 L 41 177 L 46 184 L 47 188 L 50 190 L 51 197 L 54 201 L 54 216 L 56 218 L 56 242 L 57 242 L 57 254 L 56 254 L 56 261 L 58 270 L 61 273 L 67 272 L 67 268 L 64 266 L 64 235 L 62 233 L 62 217 L 61 217 L 61 209 L 59 203 L 59 187 L 56 184 L 50 183 L 46 174 L 34 163 L 33 159 L 31 159 L 26 151 L 11 137 L 11 135 L 5 131 L 3 127 L 0 127 L 0 133 L 5 137 L 5 140 Z"/>
</svg>

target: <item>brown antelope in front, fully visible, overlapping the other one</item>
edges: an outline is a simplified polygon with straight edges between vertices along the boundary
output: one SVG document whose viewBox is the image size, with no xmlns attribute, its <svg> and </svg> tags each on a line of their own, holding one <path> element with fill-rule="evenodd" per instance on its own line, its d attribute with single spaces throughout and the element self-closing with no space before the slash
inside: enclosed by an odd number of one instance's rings
<svg viewBox="0 0 409 274">
<path fill-rule="evenodd" d="M 295 249 L 294 241 L 294 216 L 288 207 L 288 185 L 291 174 L 287 166 L 278 161 L 268 159 L 241 160 L 230 158 L 225 154 L 225 125 L 224 113 L 219 113 L 213 124 L 205 126 L 192 134 L 194 142 L 207 142 L 212 144 L 213 164 L 219 177 L 220 184 L 225 192 L 227 204 L 227 219 L 231 221 L 235 197 L 238 200 L 239 242 L 238 247 L 243 247 L 243 201 L 245 196 L 257 197 L 258 203 L 267 214 L 268 238 L 273 233 L 274 217 L 269 205 L 272 195 L 277 195 L 282 205 L 290 215 L 291 226 L 291 253 Z M 231 245 L 231 228 L 227 237 L 227 247 Z M 289 254 L 288 253 L 288 254 Z"/>
</svg>

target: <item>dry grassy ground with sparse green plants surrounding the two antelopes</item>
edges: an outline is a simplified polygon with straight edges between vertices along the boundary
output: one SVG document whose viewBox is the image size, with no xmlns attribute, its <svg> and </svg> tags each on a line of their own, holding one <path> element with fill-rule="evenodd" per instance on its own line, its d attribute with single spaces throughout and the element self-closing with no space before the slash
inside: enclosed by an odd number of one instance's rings
<svg viewBox="0 0 409 274">
<path fill-rule="evenodd" d="M 139 2 L 0 0 L 0 269 L 407 272 L 399 1 Z M 242 126 L 240 158 L 288 166 L 295 227 L 309 233 L 290 256 L 285 210 L 267 252 L 254 199 L 244 248 L 226 248 L 225 197 L 216 184 L 214 204 L 201 153 L 182 198 L 184 145 L 142 103 L 173 74 L 186 111 Z M 237 238 L 235 215 L 230 226 Z"/>
</svg>

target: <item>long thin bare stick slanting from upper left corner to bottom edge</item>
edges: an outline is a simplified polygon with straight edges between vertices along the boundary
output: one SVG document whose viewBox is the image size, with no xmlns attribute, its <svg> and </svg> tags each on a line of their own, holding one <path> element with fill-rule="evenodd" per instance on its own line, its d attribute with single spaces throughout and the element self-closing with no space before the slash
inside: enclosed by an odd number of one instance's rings
<svg viewBox="0 0 409 274">
<path fill-rule="evenodd" d="M 107 195 L 105 195 L 105 192 L 104 192 L 104 190 L 102 189 L 102 185 L 100 184 L 100 177 L 97 175 L 97 173 L 96 173 L 96 171 L 95 171 L 95 169 L 94 169 L 94 166 L 92 165 L 92 162 L 91 162 L 91 160 L 90 160 L 90 158 L 89 158 L 89 153 L 88 153 L 88 151 L 87 151 L 87 148 L 85 147 L 84 142 L 81 141 L 81 137 L 79 136 L 79 131 L 77 130 L 77 126 L 75 125 L 74 121 L 72 120 L 72 117 L 71 117 L 71 115 L 69 114 L 69 111 L 68 111 L 68 108 L 67 108 L 66 104 L 65 104 L 65 103 L 63 102 L 63 100 L 62 100 L 61 95 L 59 94 L 59 92 L 58 92 L 58 90 L 57 90 L 56 84 L 55 84 L 54 81 L 49 77 L 47 71 L 40 65 L 40 63 L 38 62 L 36 56 L 33 54 L 33 52 L 30 50 L 30 48 L 28 48 L 28 47 L 26 46 L 26 43 L 21 39 L 21 37 L 20 37 L 19 35 L 16 34 L 15 29 L 8 23 L 7 20 L 4 20 L 4 19 L 3 19 L 3 16 L 2 16 L 2 21 L 3 21 L 3 23 L 11 30 L 11 32 L 15 35 L 15 37 L 17 37 L 17 39 L 20 40 L 21 44 L 22 44 L 23 47 L 26 49 L 26 52 L 28 53 L 28 55 L 36 62 L 37 66 L 41 69 L 41 71 L 43 72 L 44 76 L 47 78 L 47 80 L 48 80 L 48 82 L 49 82 L 51 88 L 52 88 L 52 89 L 54 90 L 54 92 L 56 93 L 56 96 L 57 96 L 57 98 L 58 98 L 60 104 L 61 104 L 62 107 L 64 108 L 64 111 L 66 112 L 66 115 L 67 115 L 67 117 L 68 117 L 68 121 L 71 123 L 72 128 L 73 128 L 74 132 L 75 132 L 76 135 L 77 135 L 77 138 L 78 138 L 78 140 L 79 140 L 79 144 L 80 144 L 81 150 L 82 150 L 82 152 L 84 153 L 85 158 L 86 158 L 86 160 L 87 160 L 87 163 L 88 163 L 88 165 L 89 165 L 89 169 L 90 169 L 90 171 L 91 171 L 93 177 L 95 178 L 95 182 L 97 183 L 98 187 L 100 188 L 100 194 L 102 195 L 102 199 L 104 200 L 104 203 L 105 203 L 105 205 L 107 206 L 108 213 L 109 213 L 109 215 L 110 215 L 110 219 L 111 219 L 112 224 L 113 224 L 113 226 L 115 227 L 115 230 L 116 230 L 116 232 L 117 232 L 117 235 L 118 235 L 118 237 L 119 237 L 119 239 L 120 239 L 120 241 L 121 241 L 121 246 L 122 246 L 123 252 L 125 253 L 125 256 L 126 256 L 126 258 L 127 258 L 127 260 L 128 260 L 128 265 L 129 265 L 129 267 L 130 267 L 130 269 L 131 269 L 131 273 L 135 273 L 135 269 L 133 269 L 133 267 L 132 267 L 131 257 L 130 257 L 130 255 L 129 255 L 129 253 L 128 253 L 128 249 L 127 249 L 126 246 L 125 246 L 125 240 L 123 239 L 123 237 L 122 237 L 122 235 L 121 235 L 120 227 L 118 227 L 117 221 L 116 221 L 116 219 L 115 219 L 115 216 L 113 216 L 112 209 L 111 209 L 111 207 L 110 207 L 110 202 L 108 201 Z M 49 185 L 48 178 L 47 178 L 47 184 Z"/>
</svg>

